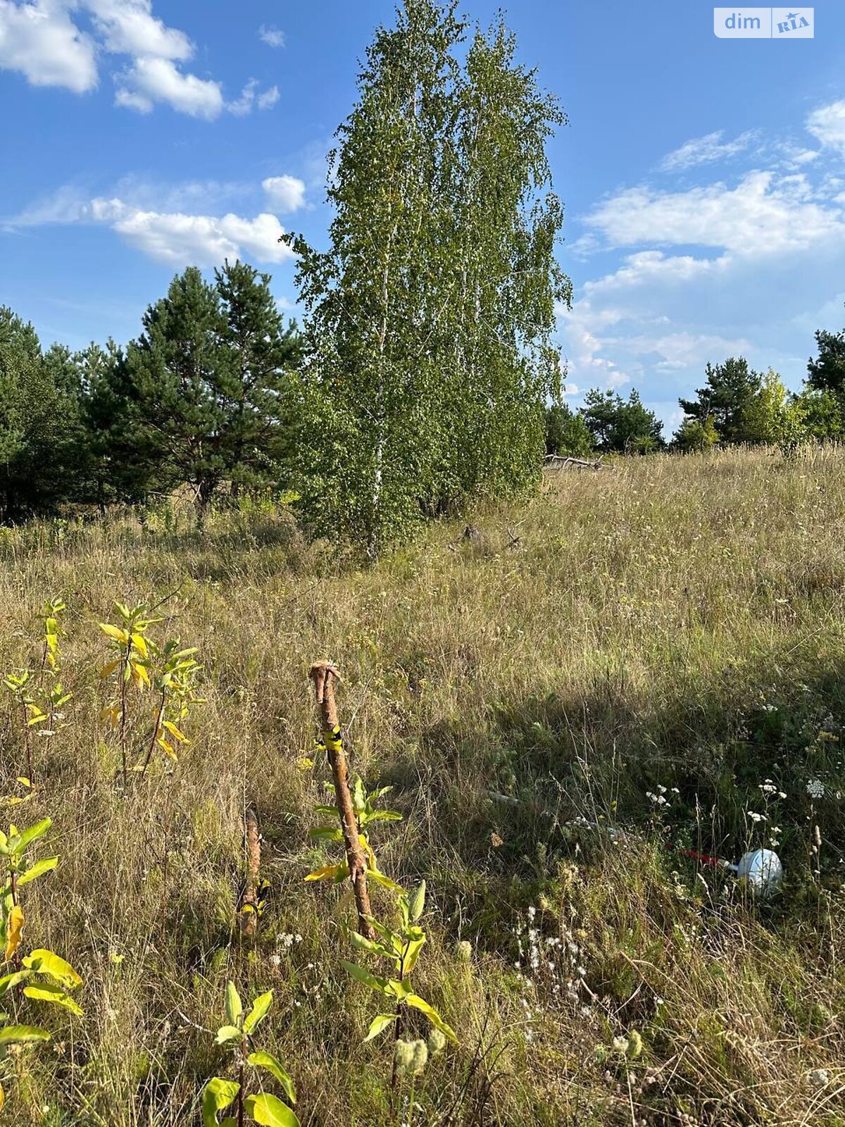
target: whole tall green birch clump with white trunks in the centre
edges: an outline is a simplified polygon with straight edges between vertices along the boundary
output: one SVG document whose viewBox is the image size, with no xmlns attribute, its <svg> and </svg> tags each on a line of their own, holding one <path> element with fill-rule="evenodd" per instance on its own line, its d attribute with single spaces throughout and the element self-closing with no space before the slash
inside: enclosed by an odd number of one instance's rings
<svg viewBox="0 0 845 1127">
<path fill-rule="evenodd" d="M 328 251 L 297 236 L 311 421 L 304 502 L 374 557 L 425 514 L 536 477 L 568 283 L 544 145 L 563 119 L 501 27 L 462 68 L 455 6 L 376 32 L 340 126 Z"/>
</svg>

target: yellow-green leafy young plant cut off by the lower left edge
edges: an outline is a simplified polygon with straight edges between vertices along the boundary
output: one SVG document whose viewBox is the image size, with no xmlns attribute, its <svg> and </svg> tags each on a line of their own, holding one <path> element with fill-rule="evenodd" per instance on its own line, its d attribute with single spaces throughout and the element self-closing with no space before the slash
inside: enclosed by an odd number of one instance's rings
<svg viewBox="0 0 845 1127">
<path fill-rule="evenodd" d="M 50 826 L 50 818 L 45 818 L 28 829 L 19 831 L 17 826 L 9 826 L 8 834 L 0 831 L 3 881 L 0 890 L 0 949 L 3 961 L 0 1006 L 3 1011 L 7 1006 L 11 1011 L 0 1013 L 0 1062 L 6 1059 L 9 1046 L 50 1040 L 51 1035 L 46 1029 L 21 1020 L 21 997 L 59 1005 L 78 1017 L 82 1015 L 81 1008 L 71 996 L 71 992 L 82 985 L 82 979 L 73 967 L 45 948 L 37 948 L 24 956 L 20 952 L 26 923 L 20 889 L 59 864 L 57 857 L 42 858 L 34 863 L 27 857 L 29 846 L 44 837 Z M 3 1099 L 0 1085 L 0 1107 Z"/>
</svg>

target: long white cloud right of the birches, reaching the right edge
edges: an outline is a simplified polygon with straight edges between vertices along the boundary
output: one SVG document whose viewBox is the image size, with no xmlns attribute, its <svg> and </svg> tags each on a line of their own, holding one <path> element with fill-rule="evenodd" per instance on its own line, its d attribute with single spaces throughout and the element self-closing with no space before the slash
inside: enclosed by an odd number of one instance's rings
<svg viewBox="0 0 845 1127">
<path fill-rule="evenodd" d="M 749 172 L 724 184 L 661 192 L 641 186 L 604 201 L 586 222 L 614 247 L 697 245 L 773 255 L 845 238 L 840 207 L 822 206 L 804 175 Z"/>
</svg>

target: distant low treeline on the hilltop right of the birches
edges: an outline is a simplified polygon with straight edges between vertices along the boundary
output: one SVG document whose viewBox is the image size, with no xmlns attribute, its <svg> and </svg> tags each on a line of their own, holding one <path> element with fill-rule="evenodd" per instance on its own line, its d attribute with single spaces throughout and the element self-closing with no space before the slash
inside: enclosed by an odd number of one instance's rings
<svg viewBox="0 0 845 1127">
<path fill-rule="evenodd" d="M 670 442 L 660 420 L 634 390 L 628 399 L 593 390 L 577 410 L 566 403 L 546 410 L 548 454 L 595 452 L 648 454 L 658 450 L 703 451 L 748 444 L 794 450 L 806 442 L 845 438 L 845 330 L 816 334 L 818 355 L 808 363 L 801 391 L 793 393 L 770 369 L 755 372 L 745 357 L 708 364 L 704 387 L 679 399 L 684 412 Z"/>
</svg>

